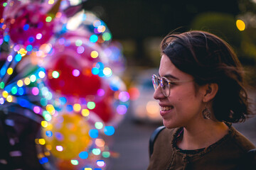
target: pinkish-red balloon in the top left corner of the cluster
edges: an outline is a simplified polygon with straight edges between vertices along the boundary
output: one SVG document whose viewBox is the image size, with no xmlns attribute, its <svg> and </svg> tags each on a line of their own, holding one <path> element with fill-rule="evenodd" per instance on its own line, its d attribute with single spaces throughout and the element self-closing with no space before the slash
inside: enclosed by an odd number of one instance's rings
<svg viewBox="0 0 256 170">
<path fill-rule="evenodd" d="M 9 18 L 9 34 L 13 42 L 27 45 L 42 45 L 53 35 L 53 21 L 41 12 L 39 4 L 26 4 L 17 9 L 14 20 Z M 36 12 L 35 12 L 36 11 Z"/>
</svg>

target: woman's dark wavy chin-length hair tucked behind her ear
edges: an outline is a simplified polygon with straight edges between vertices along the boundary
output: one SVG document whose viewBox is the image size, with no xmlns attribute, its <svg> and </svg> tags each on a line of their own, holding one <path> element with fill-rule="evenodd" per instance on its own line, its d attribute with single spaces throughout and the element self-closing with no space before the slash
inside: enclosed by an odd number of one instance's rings
<svg viewBox="0 0 256 170">
<path fill-rule="evenodd" d="M 205 31 L 171 33 L 161 42 L 161 52 L 196 84 L 218 84 L 213 112 L 219 121 L 238 123 L 252 114 L 248 107 L 243 69 L 227 42 Z"/>
</svg>

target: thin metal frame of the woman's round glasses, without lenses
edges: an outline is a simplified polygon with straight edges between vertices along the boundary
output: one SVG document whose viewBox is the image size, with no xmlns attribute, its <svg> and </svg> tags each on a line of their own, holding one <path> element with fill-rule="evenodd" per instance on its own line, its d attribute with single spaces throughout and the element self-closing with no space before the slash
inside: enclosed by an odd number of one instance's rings
<svg viewBox="0 0 256 170">
<path fill-rule="evenodd" d="M 154 81 L 154 78 L 160 80 L 160 84 L 159 84 L 158 82 L 157 82 L 157 84 L 156 84 L 155 81 Z M 164 84 L 163 84 L 163 79 L 165 79 L 166 82 L 168 83 L 168 89 L 169 89 L 168 95 L 167 95 L 166 92 L 165 92 L 165 87 L 164 87 Z M 164 94 L 164 96 L 166 96 L 166 97 L 169 97 L 170 94 L 171 94 L 171 86 L 170 86 L 170 84 L 173 84 L 173 83 L 182 83 L 182 82 L 190 82 L 190 81 L 193 81 L 193 80 L 168 80 L 166 77 L 158 77 L 158 76 L 156 76 L 156 74 L 153 74 L 153 75 L 152 75 L 152 83 L 153 83 L 153 86 L 154 86 L 154 90 L 156 91 L 156 89 L 157 89 L 157 88 L 159 87 L 159 85 L 160 85 L 160 86 L 161 86 L 161 92 L 162 92 L 162 94 Z M 155 84 L 156 84 L 157 86 L 155 86 Z"/>
</svg>

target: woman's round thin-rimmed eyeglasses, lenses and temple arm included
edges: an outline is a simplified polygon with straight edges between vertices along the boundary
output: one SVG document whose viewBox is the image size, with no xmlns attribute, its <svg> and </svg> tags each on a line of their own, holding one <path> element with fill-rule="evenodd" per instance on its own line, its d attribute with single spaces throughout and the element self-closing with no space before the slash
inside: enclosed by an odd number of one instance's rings
<svg viewBox="0 0 256 170">
<path fill-rule="evenodd" d="M 181 80 L 173 80 L 169 81 L 166 79 L 166 77 L 157 77 L 155 74 L 152 76 L 152 83 L 154 86 L 154 90 L 156 91 L 157 87 L 161 86 L 161 92 L 164 94 L 164 96 L 168 97 L 170 95 L 171 91 L 171 85 L 174 85 L 175 83 L 180 83 L 180 82 L 189 82 L 193 80 L 188 80 L 188 81 L 181 81 Z"/>
</svg>

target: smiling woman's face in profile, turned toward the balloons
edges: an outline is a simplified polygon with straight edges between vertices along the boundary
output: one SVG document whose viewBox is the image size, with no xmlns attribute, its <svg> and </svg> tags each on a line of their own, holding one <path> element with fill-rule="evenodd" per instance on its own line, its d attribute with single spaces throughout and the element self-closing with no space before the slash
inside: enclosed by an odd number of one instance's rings
<svg viewBox="0 0 256 170">
<path fill-rule="evenodd" d="M 193 77 L 177 69 L 166 55 L 161 57 L 159 76 L 169 81 L 187 81 L 170 84 L 170 95 L 167 97 L 162 94 L 161 86 L 154 92 L 166 128 L 186 127 L 202 119 L 201 112 L 206 106 L 203 103 L 204 92 L 200 86 L 196 89 L 195 82 L 191 81 Z"/>
</svg>

